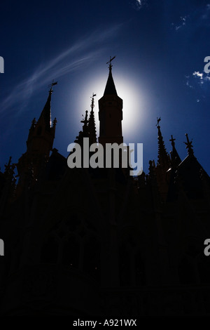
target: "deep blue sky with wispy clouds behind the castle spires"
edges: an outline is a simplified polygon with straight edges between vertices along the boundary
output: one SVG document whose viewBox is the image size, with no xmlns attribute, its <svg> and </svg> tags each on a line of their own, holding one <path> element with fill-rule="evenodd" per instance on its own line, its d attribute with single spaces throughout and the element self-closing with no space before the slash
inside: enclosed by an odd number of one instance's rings
<svg viewBox="0 0 210 330">
<path fill-rule="evenodd" d="M 113 60 L 113 79 L 123 98 L 125 143 L 144 143 L 144 171 L 157 160 L 157 117 L 167 151 L 176 138 L 181 159 L 185 133 L 195 157 L 210 174 L 210 0 L 1 1 L 0 166 L 18 162 L 34 117 L 52 94 L 57 118 L 54 147 L 67 146 L 81 130 L 90 96 L 98 100 Z M 99 130 L 97 131 L 97 133 Z"/>
</svg>

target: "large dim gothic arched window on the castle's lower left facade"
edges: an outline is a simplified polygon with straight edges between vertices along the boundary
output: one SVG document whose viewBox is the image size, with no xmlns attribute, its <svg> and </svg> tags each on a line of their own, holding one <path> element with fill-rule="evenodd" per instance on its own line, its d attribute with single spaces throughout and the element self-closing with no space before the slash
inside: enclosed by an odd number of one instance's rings
<svg viewBox="0 0 210 330">
<path fill-rule="evenodd" d="M 71 210 L 43 244 L 41 262 L 62 263 L 99 279 L 100 244 L 92 217 Z"/>
</svg>

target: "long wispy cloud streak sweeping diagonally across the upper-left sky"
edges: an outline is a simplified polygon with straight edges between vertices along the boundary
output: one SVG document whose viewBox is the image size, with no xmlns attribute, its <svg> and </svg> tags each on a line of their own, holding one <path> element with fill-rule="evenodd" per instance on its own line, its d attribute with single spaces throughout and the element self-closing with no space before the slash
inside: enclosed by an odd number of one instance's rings
<svg viewBox="0 0 210 330">
<path fill-rule="evenodd" d="M 104 41 L 113 38 L 119 28 L 120 25 L 116 25 L 104 30 L 104 32 L 94 32 L 89 37 L 58 53 L 54 58 L 41 63 L 29 77 L 11 88 L 8 96 L 1 102 L 0 113 L 5 114 L 7 110 L 13 110 L 16 105 L 21 105 L 20 112 L 22 112 L 31 95 L 49 84 L 52 79 L 59 79 L 69 72 L 80 70 L 84 65 L 95 60 L 102 53 Z M 92 51 L 92 49 L 97 50 Z"/>
</svg>

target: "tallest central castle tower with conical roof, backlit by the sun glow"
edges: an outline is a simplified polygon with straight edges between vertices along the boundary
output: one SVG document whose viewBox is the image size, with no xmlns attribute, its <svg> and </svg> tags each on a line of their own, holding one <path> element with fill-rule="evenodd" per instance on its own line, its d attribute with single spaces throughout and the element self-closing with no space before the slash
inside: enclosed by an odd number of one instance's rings
<svg viewBox="0 0 210 330">
<path fill-rule="evenodd" d="M 123 143 L 122 120 L 123 100 L 119 98 L 112 77 L 112 65 L 109 60 L 109 77 L 104 95 L 99 99 L 99 143 Z"/>
</svg>

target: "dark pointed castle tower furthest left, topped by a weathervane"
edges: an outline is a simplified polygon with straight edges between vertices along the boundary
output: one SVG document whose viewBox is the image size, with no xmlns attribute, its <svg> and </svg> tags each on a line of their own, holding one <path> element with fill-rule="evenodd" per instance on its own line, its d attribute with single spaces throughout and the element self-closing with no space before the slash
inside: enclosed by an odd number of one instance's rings
<svg viewBox="0 0 210 330">
<path fill-rule="evenodd" d="M 22 154 L 18 160 L 17 169 L 20 177 L 18 182 L 18 190 L 23 186 L 29 177 L 29 172 L 32 173 L 33 180 L 37 180 L 41 173 L 45 162 L 50 156 L 53 140 L 55 138 L 56 118 L 51 126 L 51 95 L 52 86 L 57 83 L 52 83 L 48 100 L 43 107 L 41 115 L 36 121 L 34 118 L 29 129 L 27 138 L 27 152 Z"/>
</svg>

